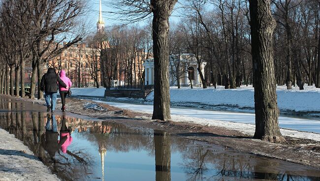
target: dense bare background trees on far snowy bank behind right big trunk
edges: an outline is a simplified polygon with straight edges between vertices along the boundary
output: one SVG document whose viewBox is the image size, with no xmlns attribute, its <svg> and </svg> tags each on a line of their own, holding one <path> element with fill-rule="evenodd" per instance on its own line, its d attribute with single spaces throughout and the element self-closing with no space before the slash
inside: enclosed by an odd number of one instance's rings
<svg viewBox="0 0 320 181">
<path fill-rule="evenodd" d="M 235 89 L 253 84 L 249 1 L 186 0 L 183 18 L 171 28 L 170 54 L 192 53 L 207 62 L 202 87 Z M 277 22 L 274 63 L 277 85 L 320 88 L 319 0 L 272 0 Z M 179 63 L 179 61 L 178 61 Z M 177 65 L 175 65 L 177 66 Z M 179 66 L 179 65 L 178 65 Z"/>
</svg>

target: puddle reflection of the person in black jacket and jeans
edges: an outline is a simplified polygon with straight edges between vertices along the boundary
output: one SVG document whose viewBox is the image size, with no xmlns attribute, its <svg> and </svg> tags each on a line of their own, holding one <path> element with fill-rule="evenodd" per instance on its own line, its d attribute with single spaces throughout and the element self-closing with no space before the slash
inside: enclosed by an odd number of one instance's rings
<svg viewBox="0 0 320 181">
<path fill-rule="evenodd" d="M 47 114 L 46 131 L 41 135 L 41 145 L 46 150 L 50 157 L 53 158 L 61 146 L 66 141 L 67 137 L 62 137 L 58 141 L 57 121 L 54 114 Z"/>
</svg>

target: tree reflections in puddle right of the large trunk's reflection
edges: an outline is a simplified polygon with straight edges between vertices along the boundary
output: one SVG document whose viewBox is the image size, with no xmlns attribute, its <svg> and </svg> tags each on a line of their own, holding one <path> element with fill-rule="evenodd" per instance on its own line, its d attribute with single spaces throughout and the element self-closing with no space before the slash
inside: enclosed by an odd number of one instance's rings
<svg viewBox="0 0 320 181">
<path fill-rule="evenodd" d="M 254 155 L 233 151 L 208 150 L 205 146 L 194 147 L 189 141 L 182 152 L 183 166 L 188 181 L 224 180 L 271 180 L 313 181 L 313 178 L 292 176 L 290 170 L 278 160 L 259 158 Z M 285 170 L 281 172 L 279 170 Z"/>
</svg>

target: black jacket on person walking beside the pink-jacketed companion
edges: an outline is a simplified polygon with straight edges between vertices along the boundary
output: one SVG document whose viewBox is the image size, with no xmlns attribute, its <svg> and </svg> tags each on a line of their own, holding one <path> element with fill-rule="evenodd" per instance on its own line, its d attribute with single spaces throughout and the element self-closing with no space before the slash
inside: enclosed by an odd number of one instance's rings
<svg viewBox="0 0 320 181">
<path fill-rule="evenodd" d="M 64 81 L 60 79 L 53 68 L 49 68 L 48 72 L 44 74 L 41 78 L 40 90 L 46 93 L 58 92 L 58 84 L 66 88 Z"/>
</svg>

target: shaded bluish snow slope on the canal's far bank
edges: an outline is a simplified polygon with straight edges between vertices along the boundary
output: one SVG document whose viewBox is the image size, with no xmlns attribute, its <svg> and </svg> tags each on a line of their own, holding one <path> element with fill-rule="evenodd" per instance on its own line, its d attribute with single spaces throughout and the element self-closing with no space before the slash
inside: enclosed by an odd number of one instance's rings
<svg viewBox="0 0 320 181">
<path fill-rule="evenodd" d="M 72 95 L 104 96 L 104 88 L 72 88 Z M 277 87 L 278 106 L 281 111 L 320 112 L 320 89 L 314 86 L 305 86 L 300 91 L 298 87 L 287 90 L 286 86 Z M 197 107 L 199 104 L 209 106 L 234 106 L 237 108 L 254 109 L 254 88 L 241 87 L 225 90 L 223 86 L 208 89 L 202 88 L 170 88 L 171 103 Z M 154 92 L 147 97 L 153 101 Z"/>
</svg>

